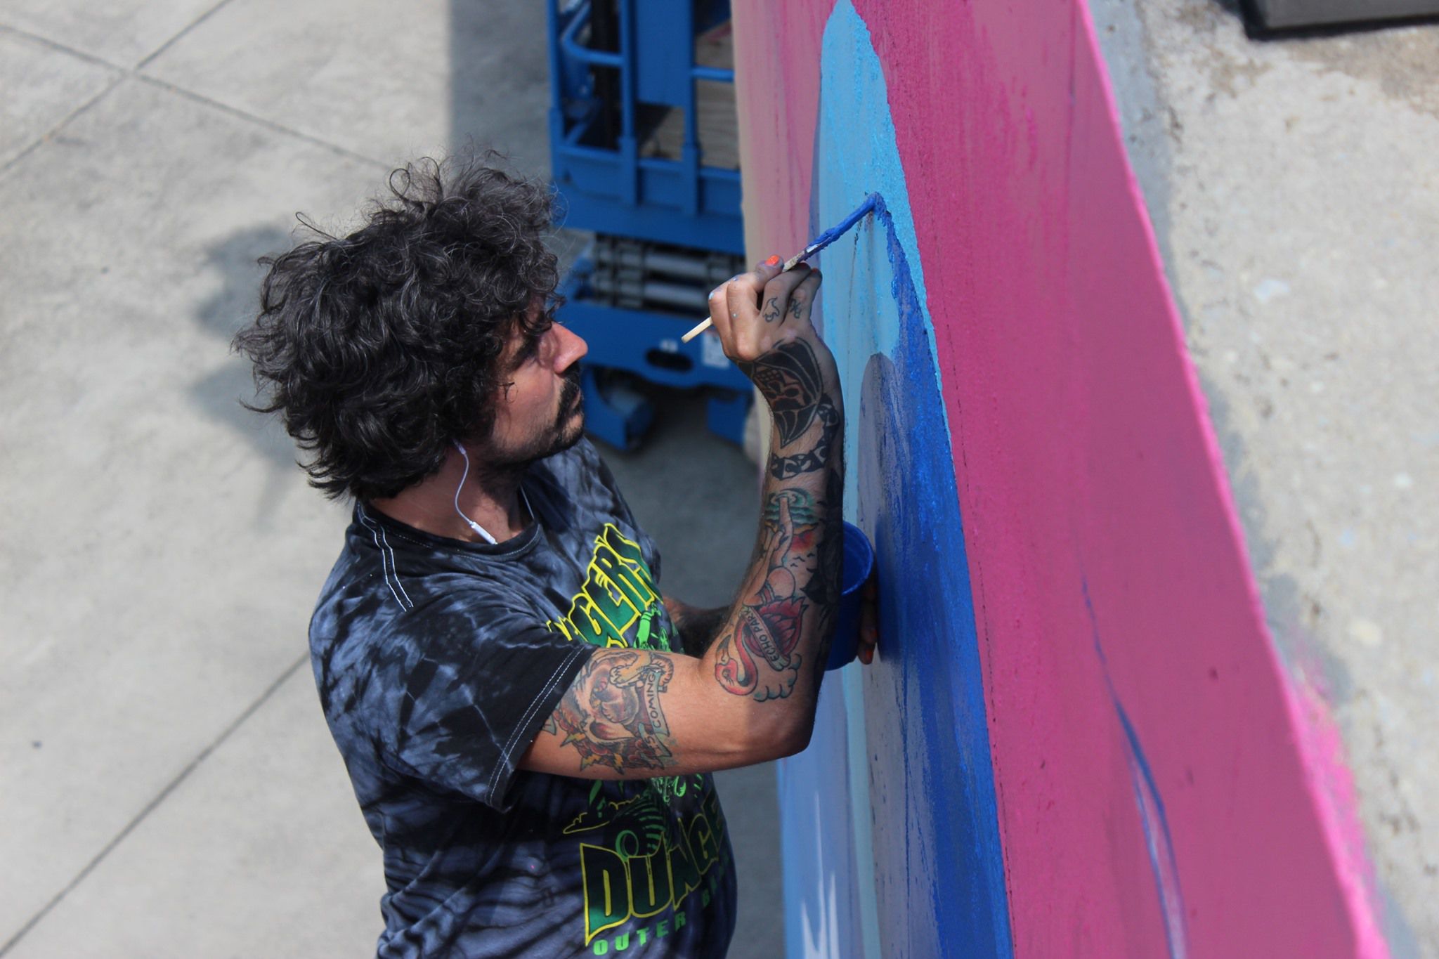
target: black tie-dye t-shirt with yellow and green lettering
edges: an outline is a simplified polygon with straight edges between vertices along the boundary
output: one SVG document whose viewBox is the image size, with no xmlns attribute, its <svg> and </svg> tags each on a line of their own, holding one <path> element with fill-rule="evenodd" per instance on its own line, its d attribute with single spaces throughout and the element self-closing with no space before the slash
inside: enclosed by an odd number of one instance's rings
<svg viewBox="0 0 1439 959">
<path fill-rule="evenodd" d="M 378 956 L 722 956 L 735 880 L 709 775 L 515 765 L 596 647 L 671 648 L 655 545 L 581 441 L 499 545 L 355 506 L 311 621 L 325 719 L 384 853 Z"/>
</svg>

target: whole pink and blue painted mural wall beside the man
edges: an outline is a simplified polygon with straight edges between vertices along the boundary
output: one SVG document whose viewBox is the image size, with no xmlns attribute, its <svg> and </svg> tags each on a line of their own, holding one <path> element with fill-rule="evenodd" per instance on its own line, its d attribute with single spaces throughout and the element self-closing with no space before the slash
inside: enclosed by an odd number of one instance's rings
<svg viewBox="0 0 1439 959">
<path fill-rule="evenodd" d="M 791 956 L 1384 956 L 1076 0 L 735 0 L 750 252 L 820 257 L 884 646 L 781 772 Z"/>
</svg>

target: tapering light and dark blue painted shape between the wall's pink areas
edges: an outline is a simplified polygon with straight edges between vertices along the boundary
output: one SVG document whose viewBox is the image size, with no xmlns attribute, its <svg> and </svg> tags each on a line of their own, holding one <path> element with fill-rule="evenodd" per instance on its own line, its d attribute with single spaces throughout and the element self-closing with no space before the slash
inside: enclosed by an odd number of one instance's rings
<svg viewBox="0 0 1439 959">
<path fill-rule="evenodd" d="M 820 78 L 812 226 L 869 193 L 888 204 L 819 257 L 848 414 L 846 518 L 875 545 L 882 646 L 839 690 L 830 679 L 810 749 L 783 763 L 789 955 L 1012 956 L 934 328 L 884 70 L 849 0 L 826 24 Z M 859 936 L 832 914 L 846 889 Z"/>
</svg>

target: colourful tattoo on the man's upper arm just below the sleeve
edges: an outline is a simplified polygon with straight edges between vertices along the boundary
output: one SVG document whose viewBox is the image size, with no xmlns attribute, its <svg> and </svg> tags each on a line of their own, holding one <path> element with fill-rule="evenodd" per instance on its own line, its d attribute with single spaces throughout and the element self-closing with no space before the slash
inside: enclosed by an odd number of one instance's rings
<svg viewBox="0 0 1439 959">
<path fill-rule="evenodd" d="M 580 769 L 602 765 L 614 772 L 675 765 L 669 722 L 661 693 L 675 664 L 650 650 L 600 650 L 584 664 L 560 700 L 545 730 L 574 746 Z"/>
</svg>

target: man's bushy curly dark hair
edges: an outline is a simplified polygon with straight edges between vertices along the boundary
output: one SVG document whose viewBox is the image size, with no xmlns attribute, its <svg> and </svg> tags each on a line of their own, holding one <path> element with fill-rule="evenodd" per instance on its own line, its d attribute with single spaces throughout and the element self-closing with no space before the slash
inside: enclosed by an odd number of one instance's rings
<svg viewBox="0 0 1439 959">
<path fill-rule="evenodd" d="M 255 364 L 245 405 L 281 414 L 332 499 L 394 496 L 453 440 L 488 437 L 505 345 L 551 322 L 554 194 L 494 158 L 412 162 L 361 229 L 341 239 L 301 219 L 314 239 L 260 260 L 260 312 L 233 342 Z"/>
</svg>

